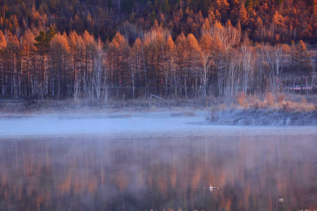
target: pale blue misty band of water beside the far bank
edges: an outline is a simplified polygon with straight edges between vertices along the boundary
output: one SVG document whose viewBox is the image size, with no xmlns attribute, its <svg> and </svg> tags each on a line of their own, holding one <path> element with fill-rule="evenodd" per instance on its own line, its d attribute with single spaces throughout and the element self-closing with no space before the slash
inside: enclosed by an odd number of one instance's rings
<svg viewBox="0 0 317 211">
<path fill-rule="evenodd" d="M 199 111 L 157 113 L 51 114 L 0 118 L 0 139 L 142 138 L 186 136 L 317 135 L 316 126 L 244 127 L 209 124 Z M 256 118 L 254 118 L 256 120 Z"/>
</svg>

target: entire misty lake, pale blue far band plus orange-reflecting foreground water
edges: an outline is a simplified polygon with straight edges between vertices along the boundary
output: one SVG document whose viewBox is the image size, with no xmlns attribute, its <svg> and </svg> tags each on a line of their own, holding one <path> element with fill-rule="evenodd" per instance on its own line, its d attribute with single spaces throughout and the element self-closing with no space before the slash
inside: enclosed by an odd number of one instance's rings
<svg viewBox="0 0 317 211">
<path fill-rule="evenodd" d="M 317 127 L 217 126 L 203 112 L 0 125 L 0 210 L 317 210 Z"/>
</svg>

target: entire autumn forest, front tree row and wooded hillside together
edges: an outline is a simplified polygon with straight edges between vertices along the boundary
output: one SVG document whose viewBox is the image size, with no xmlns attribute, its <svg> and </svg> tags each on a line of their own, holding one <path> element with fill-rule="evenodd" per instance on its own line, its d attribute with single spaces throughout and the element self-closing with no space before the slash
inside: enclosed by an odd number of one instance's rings
<svg viewBox="0 0 317 211">
<path fill-rule="evenodd" d="M 0 98 L 199 98 L 316 86 L 317 0 L 0 6 Z"/>
</svg>

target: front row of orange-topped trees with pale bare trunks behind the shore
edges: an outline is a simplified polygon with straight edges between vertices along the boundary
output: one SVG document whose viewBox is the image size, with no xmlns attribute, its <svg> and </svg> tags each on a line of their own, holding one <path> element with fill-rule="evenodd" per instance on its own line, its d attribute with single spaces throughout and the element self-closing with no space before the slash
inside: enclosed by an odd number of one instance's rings
<svg viewBox="0 0 317 211">
<path fill-rule="evenodd" d="M 111 41 L 85 31 L 49 27 L 20 37 L 0 30 L 0 94 L 28 98 L 164 98 L 232 96 L 313 84 L 304 41 L 253 43 L 240 28 L 204 19 L 198 39 L 173 39 L 156 20 L 130 43 L 120 32 Z M 316 57 L 316 56 L 315 56 Z M 316 58 L 315 58 L 316 60 Z M 284 74 L 284 75 L 283 75 Z M 282 77 L 283 75 L 283 77 Z"/>
</svg>

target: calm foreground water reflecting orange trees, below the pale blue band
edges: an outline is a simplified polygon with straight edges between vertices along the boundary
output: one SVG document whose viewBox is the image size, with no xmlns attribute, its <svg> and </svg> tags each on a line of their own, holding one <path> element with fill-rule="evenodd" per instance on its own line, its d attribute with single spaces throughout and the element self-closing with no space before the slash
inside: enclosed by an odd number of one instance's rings
<svg viewBox="0 0 317 211">
<path fill-rule="evenodd" d="M 0 210 L 317 210 L 316 140 L 2 139 Z"/>
</svg>

